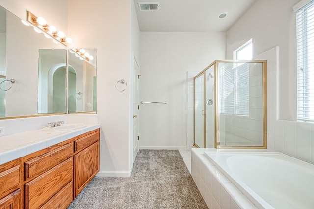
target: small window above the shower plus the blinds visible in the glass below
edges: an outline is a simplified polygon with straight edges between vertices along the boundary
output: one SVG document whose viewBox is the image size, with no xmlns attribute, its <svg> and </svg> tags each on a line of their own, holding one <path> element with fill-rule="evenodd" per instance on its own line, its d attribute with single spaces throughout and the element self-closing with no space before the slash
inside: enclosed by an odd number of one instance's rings
<svg viewBox="0 0 314 209">
<path fill-rule="evenodd" d="M 234 59 L 252 59 L 252 39 L 234 51 Z M 220 72 L 220 112 L 249 115 L 249 63 L 225 63 Z"/>
</svg>

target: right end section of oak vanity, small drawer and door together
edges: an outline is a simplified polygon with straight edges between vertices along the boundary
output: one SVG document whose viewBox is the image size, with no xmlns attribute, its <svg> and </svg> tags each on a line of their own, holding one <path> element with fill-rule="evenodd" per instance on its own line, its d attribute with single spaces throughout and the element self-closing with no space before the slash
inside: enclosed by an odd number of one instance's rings
<svg viewBox="0 0 314 209">
<path fill-rule="evenodd" d="M 74 141 L 74 198 L 99 172 L 99 129 Z"/>
</svg>

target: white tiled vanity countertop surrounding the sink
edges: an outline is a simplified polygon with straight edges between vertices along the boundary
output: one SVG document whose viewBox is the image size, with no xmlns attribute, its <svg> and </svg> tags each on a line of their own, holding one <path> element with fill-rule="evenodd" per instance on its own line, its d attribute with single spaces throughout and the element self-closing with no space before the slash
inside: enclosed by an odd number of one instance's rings
<svg viewBox="0 0 314 209">
<path fill-rule="evenodd" d="M 47 122 L 64 121 L 68 123 L 84 123 L 87 126 L 73 131 L 42 131 Z M 96 114 L 55 115 L 0 121 L 6 132 L 0 136 L 0 165 L 19 157 L 71 139 L 88 131 L 100 128 Z"/>
</svg>

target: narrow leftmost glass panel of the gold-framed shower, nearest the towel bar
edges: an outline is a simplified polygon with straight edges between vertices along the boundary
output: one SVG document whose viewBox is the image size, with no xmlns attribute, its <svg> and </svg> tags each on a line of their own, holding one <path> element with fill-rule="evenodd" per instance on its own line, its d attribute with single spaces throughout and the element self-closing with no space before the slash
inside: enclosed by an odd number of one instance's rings
<svg viewBox="0 0 314 209">
<path fill-rule="evenodd" d="M 204 74 L 194 78 L 194 146 L 204 148 Z"/>
</svg>

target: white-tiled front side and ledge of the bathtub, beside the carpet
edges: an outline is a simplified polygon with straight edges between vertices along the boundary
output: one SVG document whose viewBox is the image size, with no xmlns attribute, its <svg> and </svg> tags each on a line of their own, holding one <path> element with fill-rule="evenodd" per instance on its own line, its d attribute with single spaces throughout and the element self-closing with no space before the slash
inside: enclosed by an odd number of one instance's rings
<svg viewBox="0 0 314 209">
<path fill-rule="evenodd" d="M 191 175 L 209 209 L 256 209 L 252 202 L 204 155 L 216 149 L 192 148 Z"/>
</svg>

